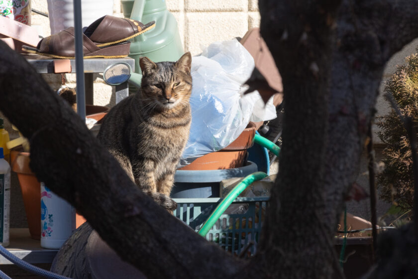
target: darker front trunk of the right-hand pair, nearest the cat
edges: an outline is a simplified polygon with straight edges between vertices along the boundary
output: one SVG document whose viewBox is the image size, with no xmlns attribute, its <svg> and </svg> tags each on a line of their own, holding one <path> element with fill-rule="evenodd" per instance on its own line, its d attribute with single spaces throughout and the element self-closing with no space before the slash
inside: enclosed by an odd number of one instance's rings
<svg viewBox="0 0 418 279">
<path fill-rule="evenodd" d="M 282 76 L 286 108 L 280 172 L 256 258 L 264 270 L 282 278 L 341 276 L 332 260 L 324 264 L 323 259 L 334 257 L 333 232 L 318 218 L 326 208 L 328 96 L 339 6 L 339 1 L 324 2 L 259 2 L 261 34 Z M 267 266 L 270 258 L 281 259 L 276 274 Z"/>
</svg>

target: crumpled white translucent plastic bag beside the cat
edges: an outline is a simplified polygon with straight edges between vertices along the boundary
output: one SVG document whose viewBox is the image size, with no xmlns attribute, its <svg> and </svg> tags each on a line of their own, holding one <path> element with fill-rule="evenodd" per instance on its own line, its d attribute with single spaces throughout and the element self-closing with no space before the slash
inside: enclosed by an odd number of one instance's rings
<svg viewBox="0 0 418 279">
<path fill-rule="evenodd" d="M 254 105 L 263 102 L 258 92 L 241 97 L 253 69 L 254 59 L 236 39 L 212 43 L 192 58 L 192 125 L 179 167 L 228 146 L 251 119 L 276 117 L 272 102 L 267 113 L 252 116 Z"/>
</svg>

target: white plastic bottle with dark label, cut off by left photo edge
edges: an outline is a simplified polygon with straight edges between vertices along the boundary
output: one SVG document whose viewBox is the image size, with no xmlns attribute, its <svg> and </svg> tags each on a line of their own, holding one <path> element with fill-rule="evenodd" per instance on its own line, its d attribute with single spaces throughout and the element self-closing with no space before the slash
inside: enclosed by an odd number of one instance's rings
<svg viewBox="0 0 418 279">
<path fill-rule="evenodd" d="M 0 245 L 9 245 L 10 218 L 10 165 L 4 159 L 3 148 L 0 147 Z"/>
</svg>

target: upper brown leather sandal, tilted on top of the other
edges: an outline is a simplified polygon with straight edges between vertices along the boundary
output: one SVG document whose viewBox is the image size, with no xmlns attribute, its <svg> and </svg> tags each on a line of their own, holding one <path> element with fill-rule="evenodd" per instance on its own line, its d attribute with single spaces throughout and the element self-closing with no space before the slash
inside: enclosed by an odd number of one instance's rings
<svg viewBox="0 0 418 279">
<path fill-rule="evenodd" d="M 142 24 L 138 20 L 105 15 L 89 25 L 84 34 L 97 46 L 129 40 L 155 27 L 155 21 Z"/>
</svg>

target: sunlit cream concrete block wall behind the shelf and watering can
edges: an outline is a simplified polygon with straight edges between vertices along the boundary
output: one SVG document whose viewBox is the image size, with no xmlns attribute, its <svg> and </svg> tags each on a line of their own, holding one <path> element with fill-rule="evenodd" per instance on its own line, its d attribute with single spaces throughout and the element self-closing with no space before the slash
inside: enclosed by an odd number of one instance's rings
<svg viewBox="0 0 418 279">
<path fill-rule="evenodd" d="M 48 12 L 46 0 L 32 0 L 32 8 Z M 167 8 L 177 19 L 185 51 L 197 55 L 202 47 L 221 40 L 242 37 L 250 28 L 259 26 L 258 0 L 166 0 Z M 123 17 L 120 0 L 113 1 L 113 15 Z M 42 36 L 50 35 L 48 18 L 32 13 L 32 25 Z M 53 89 L 60 87 L 58 75 L 44 75 Z M 67 74 L 69 87 L 76 86 L 75 74 Z M 100 75 L 95 79 L 94 104 L 114 105 L 114 89 Z"/>
</svg>

